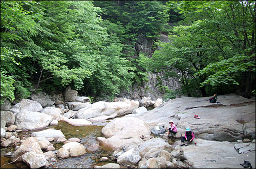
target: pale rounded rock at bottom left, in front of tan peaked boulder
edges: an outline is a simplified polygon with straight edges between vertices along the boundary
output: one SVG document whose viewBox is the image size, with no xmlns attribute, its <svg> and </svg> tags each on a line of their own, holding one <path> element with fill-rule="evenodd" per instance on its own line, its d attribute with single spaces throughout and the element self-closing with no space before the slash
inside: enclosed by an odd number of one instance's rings
<svg viewBox="0 0 256 169">
<path fill-rule="evenodd" d="M 36 152 L 30 151 L 22 155 L 22 160 L 30 166 L 30 168 L 40 168 L 47 164 L 47 160 L 44 154 L 36 154 Z"/>
</svg>

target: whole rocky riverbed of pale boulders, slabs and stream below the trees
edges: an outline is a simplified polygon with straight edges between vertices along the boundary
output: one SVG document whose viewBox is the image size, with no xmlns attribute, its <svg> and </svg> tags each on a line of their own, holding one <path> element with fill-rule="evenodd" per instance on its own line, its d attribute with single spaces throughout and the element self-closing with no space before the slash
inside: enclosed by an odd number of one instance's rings
<svg viewBox="0 0 256 169">
<path fill-rule="evenodd" d="M 206 99 L 91 104 L 67 89 L 63 95 L 6 103 L 1 105 L 1 166 L 13 163 L 1 168 L 243 168 L 244 160 L 255 167 L 255 99 L 236 94 L 218 96 L 221 104 Z M 169 120 L 177 134 L 152 134 L 159 127 L 167 130 Z M 180 147 L 186 127 L 195 139 Z"/>
</svg>

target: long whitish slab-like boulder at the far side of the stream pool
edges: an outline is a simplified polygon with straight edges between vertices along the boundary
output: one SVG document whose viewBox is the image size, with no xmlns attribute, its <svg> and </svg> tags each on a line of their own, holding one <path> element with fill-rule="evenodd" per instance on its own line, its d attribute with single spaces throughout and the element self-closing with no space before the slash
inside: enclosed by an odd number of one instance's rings
<svg viewBox="0 0 256 169">
<path fill-rule="evenodd" d="M 103 102 L 99 101 L 77 111 L 75 117 L 93 121 L 103 121 L 131 114 L 139 107 L 138 101 Z"/>
</svg>

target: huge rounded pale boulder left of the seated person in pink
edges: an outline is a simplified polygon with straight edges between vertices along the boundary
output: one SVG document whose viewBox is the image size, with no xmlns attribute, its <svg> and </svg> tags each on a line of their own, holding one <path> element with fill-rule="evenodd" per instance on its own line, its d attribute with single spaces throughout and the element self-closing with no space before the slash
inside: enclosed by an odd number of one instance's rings
<svg viewBox="0 0 256 169">
<path fill-rule="evenodd" d="M 107 139 L 103 139 L 100 145 L 111 150 L 116 150 L 124 144 L 139 144 L 143 142 L 140 136 L 151 133 L 150 127 L 136 118 L 114 119 L 104 126 L 101 132 Z"/>
</svg>

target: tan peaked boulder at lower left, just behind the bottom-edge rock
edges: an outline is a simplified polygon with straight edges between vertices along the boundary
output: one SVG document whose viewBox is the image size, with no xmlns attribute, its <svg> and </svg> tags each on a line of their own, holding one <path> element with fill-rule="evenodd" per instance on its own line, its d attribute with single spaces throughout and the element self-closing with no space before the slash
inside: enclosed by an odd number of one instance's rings
<svg viewBox="0 0 256 169">
<path fill-rule="evenodd" d="M 30 151 L 33 151 L 36 154 L 44 155 L 35 137 L 27 138 L 13 153 L 11 156 L 11 161 L 15 161 L 17 158 Z M 22 161 L 22 158 L 17 159 L 17 161 Z"/>
</svg>

